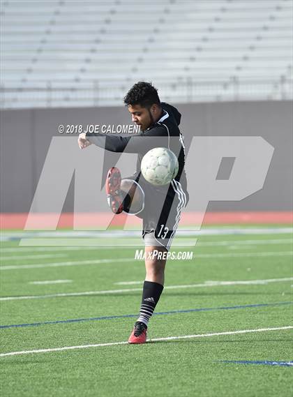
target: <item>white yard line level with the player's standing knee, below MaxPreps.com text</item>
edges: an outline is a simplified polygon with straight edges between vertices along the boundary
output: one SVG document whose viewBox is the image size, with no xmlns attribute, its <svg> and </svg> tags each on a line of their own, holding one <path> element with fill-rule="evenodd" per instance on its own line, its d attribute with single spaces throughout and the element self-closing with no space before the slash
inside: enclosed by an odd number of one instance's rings
<svg viewBox="0 0 293 397">
<path fill-rule="evenodd" d="M 274 257 L 274 256 L 291 256 L 293 251 L 265 251 L 262 253 L 214 253 L 214 254 L 197 254 L 193 255 L 193 259 L 197 258 L 222 258 L 222 257 Z M 45 267 L 62 267 L 62 266 L 81 266 L 85 264 L 103 264 L 113 262 L 134 262 L 135 258 L 120 258 L 120 259 L 101 259 L 101 260 L 80 260 L 77 262 L 53 262 L 53 263 L 40 263 L 40 264 L 21 264 L 21 265 L 3 265 L 1 270 L 14 270 L 14 269 L 42 269 Z"/>
</svg>

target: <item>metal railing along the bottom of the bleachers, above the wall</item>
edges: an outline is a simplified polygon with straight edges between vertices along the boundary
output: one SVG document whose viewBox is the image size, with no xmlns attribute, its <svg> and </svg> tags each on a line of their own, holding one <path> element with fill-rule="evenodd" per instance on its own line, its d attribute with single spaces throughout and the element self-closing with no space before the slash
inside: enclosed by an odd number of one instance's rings
<svg viewBox="0 0 293 397">
<path fill-rule="evenodd" d="M 174 103 L 197 103 L 238 100 L 292 100 L 292 77 L 271 79 L 201 80 L 192 77 L 172 81 L 153 82 L 159 90 L 160 98 Z M 123 103 L 133 82 L 117 81 L 107 86 L 98 80 L 71 82 L 67 87 L 57 86 L 57 82 L 35 82 L 31 87 L 13 87 L 2 84 L 0 87 L 2 109 L 31 107 L 96 107 L 115 106 Z"/>
</svg>

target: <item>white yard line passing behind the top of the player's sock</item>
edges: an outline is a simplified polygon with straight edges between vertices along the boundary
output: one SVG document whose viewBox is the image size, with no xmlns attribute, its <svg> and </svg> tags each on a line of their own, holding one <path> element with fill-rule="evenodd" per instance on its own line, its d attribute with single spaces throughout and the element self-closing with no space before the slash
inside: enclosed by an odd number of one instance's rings
<svg viewBox="0 0 293 397">
<path fill-rule="evenodd" d="M 186 284 L 186 285 L 166 285 L 165 290 L 179 290 L 182 288 L 197 288 L 197 287 L 221 287 L 227 285 L 266 285 L 268 283 L 283 283 L 292 281 L 293 277 L 287 278 L 267 278 L 264 280 L 236 280 L 236 281 L 205 281 L 200 284 Z M 67 292 L 60 294 L 46 294 L 46 295 L 24 295 L 23 297 L 1 297 L 0 301 L 15 301 L 23 299 L 46 299 L 46 298 L 58 298 L 58 297 L 79 297 L 84 295 L 105 295 L 105 294 L 119 294 L 123 292 L 135 292 L 141 291 L 140 288 L 127 288 L 123 290 L 105 290 L 105 291 L 85 291 L 85 292 Z"/>
</svg>

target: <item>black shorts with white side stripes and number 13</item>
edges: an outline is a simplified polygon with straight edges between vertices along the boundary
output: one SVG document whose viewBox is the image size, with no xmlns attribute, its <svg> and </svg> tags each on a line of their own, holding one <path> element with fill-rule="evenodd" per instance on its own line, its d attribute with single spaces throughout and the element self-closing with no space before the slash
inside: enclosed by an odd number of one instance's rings
<svg viewBox="0 0 293 397">
<path fill-rule="evenodd" d="M 123 179 L 132 179 L 144 193 L 144 208 L 135 215 L 143 220 L 142 238 L 145 246 L 163 246 L 169 250 L 181 211 L 188 203 L 187 191 L 175 179 L 168 186 L 153 186 L 141 173 Z"/>
</svg>

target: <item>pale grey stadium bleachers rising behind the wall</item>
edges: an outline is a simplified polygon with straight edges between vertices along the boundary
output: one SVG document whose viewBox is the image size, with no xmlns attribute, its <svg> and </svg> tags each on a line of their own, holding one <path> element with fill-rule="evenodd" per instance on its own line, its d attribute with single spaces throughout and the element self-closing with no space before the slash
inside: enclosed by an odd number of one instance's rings
<svg viewBox="0 0 293 397">
<path fill-rule="evenodd" d="M 292 98 L 290 0 L 1 1 L 1 107 Z"/>
</svg>

